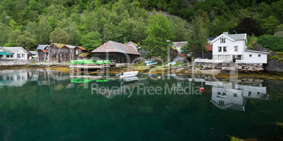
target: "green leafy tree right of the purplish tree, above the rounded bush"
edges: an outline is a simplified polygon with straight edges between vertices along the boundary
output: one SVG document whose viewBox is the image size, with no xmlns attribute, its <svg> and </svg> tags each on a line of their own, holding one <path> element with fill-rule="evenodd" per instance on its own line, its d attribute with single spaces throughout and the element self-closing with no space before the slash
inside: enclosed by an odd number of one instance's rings
<svg viewBox="0 0 283 141">
<path fill-rule="evenodd" d="M 270 15 L 268 18 L 263 20 L 263 29 L 265 29 L 265 33 L 267 34 L 275 34 L 278 25 L 279 20 L 277 20 L 277 18 L 273 15 Z"/>
</svg>

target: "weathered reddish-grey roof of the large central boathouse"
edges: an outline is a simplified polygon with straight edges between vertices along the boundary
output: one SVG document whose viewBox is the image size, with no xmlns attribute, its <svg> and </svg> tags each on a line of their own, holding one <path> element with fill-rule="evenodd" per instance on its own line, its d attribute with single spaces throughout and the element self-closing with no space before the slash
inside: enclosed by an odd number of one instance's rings
<svg viewBox="0 0 283 141">
<path fill-rule="evenodd" d="M 141 55 L 137 52 L 136 49 L 132 46 L 125 45 L 124 43 L 117 43 L 115 41 L 108 41 L 104 43 L 99 48 L 96 48 L 92 53 L 127 53 L 127 54 L 134 54 L 134 55 Z"/>
</svg>

